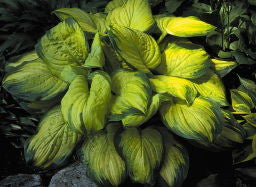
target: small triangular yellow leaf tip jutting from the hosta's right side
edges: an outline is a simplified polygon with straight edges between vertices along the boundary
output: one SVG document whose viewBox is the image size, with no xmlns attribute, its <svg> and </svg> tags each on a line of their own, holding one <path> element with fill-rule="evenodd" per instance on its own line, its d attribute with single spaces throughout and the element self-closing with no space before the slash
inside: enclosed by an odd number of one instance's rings
<svg viewBox="0 0 256 187">
<path fill-rule="evenodd" d="M 235 61 L 211 59 L 211 62 L 213 69 L 221 77 L 227 75 L 232 69 L 234 69 L 237 66 L 237 63 Z"/>
</svg>

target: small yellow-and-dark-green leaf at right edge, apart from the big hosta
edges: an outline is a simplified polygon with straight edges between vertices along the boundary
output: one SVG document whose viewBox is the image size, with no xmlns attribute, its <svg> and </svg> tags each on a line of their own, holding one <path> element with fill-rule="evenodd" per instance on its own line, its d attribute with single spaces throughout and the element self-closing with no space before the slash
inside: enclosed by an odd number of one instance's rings
<svg viewBox="0 0 256 187">
<path fill-rule="evenodd" d="M 232 108 L 235 110 L 235 114 L 249 114 L 251 109 L 255 107 L 251 97 L 240 90 L 233 89 L 231 92 Z"/>
</svg>

